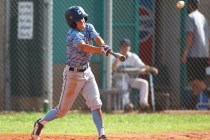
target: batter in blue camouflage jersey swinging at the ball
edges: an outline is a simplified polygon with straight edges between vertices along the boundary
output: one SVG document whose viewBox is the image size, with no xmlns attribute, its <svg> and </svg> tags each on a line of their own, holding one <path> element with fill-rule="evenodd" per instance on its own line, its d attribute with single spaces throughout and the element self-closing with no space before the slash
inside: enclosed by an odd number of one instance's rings
<svg viewBox="0 0 210 140">
<path fill-rule="evenodd" d="M 99 140 L 107 140 L 104 132 L 102 102 L 95 77 L 89 61 L 92 53 L 104 53 L 108 56 L 110 47 L 104 45 L 103 39 L 94 26 L 87 21 L 87 13 L 80 6 L 72 6 L 65 12 L 70 27 L 67 38 L 67 63 L 63 71 L 63 86 L 59 104 L 34 124 L 32 139 L 39 140 L 44 125 L 57 118 L 64 117 L 71 109 L 79 93 L 82 93 L 87 106 L 91 109 L 93 121 L 98 130 Z M 100 47 L 93 46 L 93 41 Z"/>
</svg>

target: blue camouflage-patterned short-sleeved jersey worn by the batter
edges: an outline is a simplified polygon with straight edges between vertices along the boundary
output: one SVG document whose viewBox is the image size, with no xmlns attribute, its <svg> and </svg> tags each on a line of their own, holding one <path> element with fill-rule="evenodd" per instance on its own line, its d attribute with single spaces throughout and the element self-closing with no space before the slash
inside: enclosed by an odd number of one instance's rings
<svg viewBox="0 0 210 140">
<path fill-rule="evenodd" d="M 70 67 L 79 67 L 87 64 L 90 61 L 91 53 L 79 50 L 77 45 L 83 41 L 86 44 L 93 45 L 93 39 L 98 35 L 94 26 L 90 23 L 86 23 L 83 31 L 71 28 L 66 38 L 67 65 Z"/>
</svg>

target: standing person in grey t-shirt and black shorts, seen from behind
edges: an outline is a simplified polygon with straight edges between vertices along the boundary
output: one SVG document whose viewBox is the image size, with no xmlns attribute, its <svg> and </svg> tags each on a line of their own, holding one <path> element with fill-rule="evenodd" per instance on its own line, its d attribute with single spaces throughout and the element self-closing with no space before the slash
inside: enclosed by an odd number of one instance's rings
<svg viewBox="0 0 210 140">
<path fill-rule="evenodd" d="M 207 89 L 205 69 L 209 65 L 209 24 L 205 16 L 198 10 L 198 4 L 199 0 L 188 0 L 187 37 L 182 55 L 182 63 L 187 63 L 188 82 L 193 88 L 191 109 L 194 109 L 197 104 L 197 95 Z"/>
</svg>

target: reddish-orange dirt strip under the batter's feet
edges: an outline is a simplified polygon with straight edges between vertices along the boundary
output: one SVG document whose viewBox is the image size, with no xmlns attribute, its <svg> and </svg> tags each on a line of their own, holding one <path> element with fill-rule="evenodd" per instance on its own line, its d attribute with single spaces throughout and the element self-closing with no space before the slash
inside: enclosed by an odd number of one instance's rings
<svg viewBox="0 0 210 140">
<path fill-rule="evenodd" d="M 109 140 L 210 140 L 210 132 L 107 135 Z M 0 134 L 0 140 L 31 140 L 26 134 Z M 41 140 L 97 140 L 96 136 L 42 135 Z"/>
</svg>

